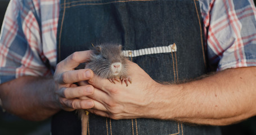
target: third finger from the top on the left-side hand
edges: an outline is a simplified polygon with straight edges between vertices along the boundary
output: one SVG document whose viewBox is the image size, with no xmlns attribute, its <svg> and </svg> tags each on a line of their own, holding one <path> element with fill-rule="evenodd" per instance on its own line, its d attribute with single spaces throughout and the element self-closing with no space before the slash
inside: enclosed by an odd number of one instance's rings
<svg viewBox="0 0 256 135">
<path fill-rule="evenodd" d="M 82 96 L 88 96 L 93 94 L 93 86 L 79 86 L 70 88 L 61 88 L 58 92 L 61 97 L 64 98 L 78 98 Z"/>
</svg>

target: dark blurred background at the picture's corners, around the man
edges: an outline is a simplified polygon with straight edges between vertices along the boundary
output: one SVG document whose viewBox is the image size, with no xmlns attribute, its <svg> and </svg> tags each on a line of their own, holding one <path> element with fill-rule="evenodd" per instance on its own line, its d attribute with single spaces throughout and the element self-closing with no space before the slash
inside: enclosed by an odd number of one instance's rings
<svg viewBox="0 0 256 135">
<path fill-rule="evenodd" d="M 254 3 L 255 1 L 256 0 L 254 0 Z M 0 26 L 2 25 L 8 2 L 9 0 L 0 0 Z M 0 135 L 50 134 L 50 119 L 44 120 L 43 122 L 29 122 L 1 110 L 0 107 Z M 256 116 L 238 124 L 221 127 L 221 129 L 223 135 L 256 135 Z"/>
</svg>

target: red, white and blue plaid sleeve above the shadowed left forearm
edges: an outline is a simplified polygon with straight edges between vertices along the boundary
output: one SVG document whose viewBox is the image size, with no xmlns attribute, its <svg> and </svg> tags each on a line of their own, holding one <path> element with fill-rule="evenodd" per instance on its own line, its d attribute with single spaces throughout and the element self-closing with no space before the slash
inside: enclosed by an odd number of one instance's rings
<svg viewBox="0 0 256 135">
<path fill-rule="evenodd" d="M 39 10 L 34 1 L 10 2 L 0 36 L 0 83 L 52 74 L 43 55 Z"/>
</svg>

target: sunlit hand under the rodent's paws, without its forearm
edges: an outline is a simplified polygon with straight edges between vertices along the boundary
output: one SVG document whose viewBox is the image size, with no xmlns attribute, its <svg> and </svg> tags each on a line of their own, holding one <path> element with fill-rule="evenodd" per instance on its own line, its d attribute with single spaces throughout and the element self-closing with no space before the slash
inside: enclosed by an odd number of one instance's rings
<svg viewBox="0 0 256 135">
<path fill-rule="evenodd" d="M 156 106 L 152 102 L 161 84 L 151 79 L 137 64 L 129 61 L 128 65 L 128 75 L 133 80 L 128 87 L 97 76 L 88 80 L 95 87 L 95 93 L 88 96 L 95 100 L 95 107 L 89 109 L 91 113 L 112 119 L 153 117 L 152 110 Z"/>
</svg>

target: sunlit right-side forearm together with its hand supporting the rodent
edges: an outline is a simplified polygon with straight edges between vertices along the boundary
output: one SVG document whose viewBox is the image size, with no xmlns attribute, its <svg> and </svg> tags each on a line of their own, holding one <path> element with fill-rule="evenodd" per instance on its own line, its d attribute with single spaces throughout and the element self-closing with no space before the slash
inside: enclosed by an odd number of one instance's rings
<svg viewBox="0 0 256 135">
<path fill-rule="evenodd" d="M 132 84 L 93 77 L 91 113 L 112 119 L 154 118 L 227 125 L 256 114 L 255 67 L 228 69 L 182 84 L 159 84 L 137 64 L 128 62 Z"/>
</svg>

